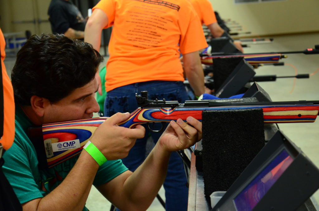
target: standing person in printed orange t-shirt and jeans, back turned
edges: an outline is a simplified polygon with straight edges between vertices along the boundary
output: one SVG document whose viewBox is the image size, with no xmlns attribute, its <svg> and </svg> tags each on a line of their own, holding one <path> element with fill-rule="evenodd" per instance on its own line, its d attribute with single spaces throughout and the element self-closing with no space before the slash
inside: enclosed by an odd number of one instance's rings
<svg viewBox="0 0 319 211">
<path fill-rule="evenodd" d="M 135 93 L 149 99 L 189 97 L 183 84 L 183 65 L 196 96 L 204 93 L 199 50 L 207 47 L 200 21 L 187 0 L 101 0 L 85 26 L 85 42 L 99 51 L 101 31 L 113 26 L 106 65 L 105 116 L 133 112 Z M 98 74 L 96 75 L 100 81 Z M 146 134 L 148 134 L 146 128 Z M 159 133 L 151 133 L 154 142 Z M 134 171 L 145 159 L 147 135 L 138 139 L 123 163 Z M 166 210 L 187 209 L 188 187 L 182 159 L 172 153 L 164 182 Z"/>
</svg>

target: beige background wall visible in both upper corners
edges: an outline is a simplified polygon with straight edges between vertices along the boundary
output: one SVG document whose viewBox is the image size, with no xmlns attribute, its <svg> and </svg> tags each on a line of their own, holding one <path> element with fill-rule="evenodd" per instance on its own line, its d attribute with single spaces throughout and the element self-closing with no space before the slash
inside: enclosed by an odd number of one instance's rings
<svg viewBox="0 0 319 211">
<path fill-rule="evenodd" d="M 259 4 L 234 4 L 234 0 L 210 0 L 222 18 L 230 18 L 254 35 L 319 31 L 319 0 L 286 0 Z M 4 33 L 50 33 L 49 22 L 41 24 L 12 21 L 48 20 L 50 0 L 0 0 L 0 27 Z"/>
</svg>

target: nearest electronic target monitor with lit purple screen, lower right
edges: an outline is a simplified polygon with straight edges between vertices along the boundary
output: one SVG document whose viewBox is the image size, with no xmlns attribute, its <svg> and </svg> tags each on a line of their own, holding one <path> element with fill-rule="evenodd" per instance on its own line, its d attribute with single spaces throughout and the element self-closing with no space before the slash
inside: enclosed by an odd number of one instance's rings
<svg viewBox="0 0 319 211">
<path fill-rule="evenodd" d="M 318 168 L 278 130 L 211 210 L 296 210 L 318 188 Z"/>
</svg>

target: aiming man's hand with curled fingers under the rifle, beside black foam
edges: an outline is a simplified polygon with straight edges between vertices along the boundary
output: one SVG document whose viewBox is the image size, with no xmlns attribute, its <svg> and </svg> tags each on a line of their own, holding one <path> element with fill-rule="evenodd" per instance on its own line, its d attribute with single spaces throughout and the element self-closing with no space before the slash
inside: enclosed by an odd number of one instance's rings
<svg viewBox="0 0 319 211">
<path fill-rule="evenodd" d="M 202 123 L 193 117 L 187 117 L 186 124 L 178 119 L 171 121 L 159 138 L 159 145 L 167 151 L 189 148 L 202 139 Z"/>
</svg>

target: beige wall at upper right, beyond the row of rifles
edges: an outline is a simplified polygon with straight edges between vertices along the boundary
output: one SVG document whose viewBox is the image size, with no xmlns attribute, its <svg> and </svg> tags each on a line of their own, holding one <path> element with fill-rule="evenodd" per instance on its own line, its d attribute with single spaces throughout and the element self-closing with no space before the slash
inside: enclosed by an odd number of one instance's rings
<svg viewBox="0 0 319 211">
<path fill-rule="evenodd" d="M 223 19 L 230 18 L 254 35 L 319 31 L 318 0 L 234 4 L 234 0 L 210 0 Z"/>
</svg>

